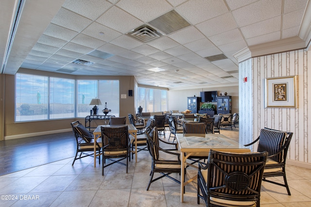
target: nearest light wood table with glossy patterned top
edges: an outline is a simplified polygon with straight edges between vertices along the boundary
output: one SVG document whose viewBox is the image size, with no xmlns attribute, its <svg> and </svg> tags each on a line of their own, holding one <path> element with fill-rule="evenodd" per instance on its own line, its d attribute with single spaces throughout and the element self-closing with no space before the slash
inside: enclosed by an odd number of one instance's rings
<svg viewBox="0 0 311 207">
<path fill-rule="evenodd" d="M 222 134 L 176 134 L 178 150 L 181 155 L 181 172 L 184 172 L 186 165 L 193 166 L 187 163 L 187 159 L 190 156 L 199 156 L 208 158 L 209 150 L 217 150 L 221 152 L 250 152 L 249 148 L 246 148 L 242 144 L 235 142 L 231 138 Z M 184 186 L 192 182 L 197 178 L 197 174 L 185 181 L 185 174 L 181 173 L 180 181 L 180 202 L 184 202 Z"/>
</svg>

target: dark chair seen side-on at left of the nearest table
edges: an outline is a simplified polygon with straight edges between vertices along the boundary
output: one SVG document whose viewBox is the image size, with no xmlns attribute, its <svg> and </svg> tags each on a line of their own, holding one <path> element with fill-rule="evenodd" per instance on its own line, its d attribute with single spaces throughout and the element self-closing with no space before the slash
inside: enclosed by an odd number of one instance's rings
<svg viewBox="0 0 311 207">
<path fill-rule="evenodd" d="M 149 190 L 151 183 L 165 176 L 180 184 L 179 180 L 170 176 L 172 173 L 178 173 L 179 175 L 181 173 L 180 153 L 177 151 L 165 150 L 159 146 L 160 139 L 158 138 L 157 127 L 154 127 L 152 131 L 150 133 L 146 133 L 146 135 L 149 154 L 152 158 L 150 172 L 151 177 L 147 186 L 147 191 Z M 161 176 L 154 179 L 155 173 L 160 173 Z"/>
</svg>

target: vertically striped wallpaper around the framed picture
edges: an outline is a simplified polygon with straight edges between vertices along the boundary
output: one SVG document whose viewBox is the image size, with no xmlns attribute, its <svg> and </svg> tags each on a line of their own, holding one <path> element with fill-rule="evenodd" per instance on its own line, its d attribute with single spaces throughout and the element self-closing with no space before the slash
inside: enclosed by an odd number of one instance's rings
<svg viewBox="0 0 311 207">
<path fill-rule="evenodd" d="M 250 143 L 263 127 L 294 132 L 288 163 L 311 167 L 311 76 L 308 77 L 311 53 L 306 49 L 260 56 L 239 64 L 240 142 Z M 265 78 L 297 76 L 297 108 L 265 108 Z M 247 82 L 243 78 L 247 77 Z M 257 146 L 255 148 L 257 149 Z"/>
</svg>

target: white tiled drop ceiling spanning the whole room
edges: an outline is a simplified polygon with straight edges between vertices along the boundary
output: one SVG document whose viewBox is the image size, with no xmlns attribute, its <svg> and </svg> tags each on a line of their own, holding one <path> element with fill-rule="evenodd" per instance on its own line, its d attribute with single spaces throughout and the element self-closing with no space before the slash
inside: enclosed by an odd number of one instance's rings
<svg viewBox="0 0 311 207">
<path fill-rule="evenodd" d="M 309 43 L 308 0 L 24 0 L 13 30 L 18 2 L 0 8 L 3 74 L 21 67 L 135 76 L 138 84 L 169 89 L 238 85 L 235 53 Z M 148 41 L 129 36 L 142 28 Z"/>
</svg>

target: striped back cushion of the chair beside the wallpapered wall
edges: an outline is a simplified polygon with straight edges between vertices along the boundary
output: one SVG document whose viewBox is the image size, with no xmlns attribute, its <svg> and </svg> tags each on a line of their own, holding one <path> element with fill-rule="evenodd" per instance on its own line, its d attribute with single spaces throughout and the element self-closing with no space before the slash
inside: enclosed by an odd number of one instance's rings
<svg viewBox="0 0 311 207">
<path fill-rule="evenodd" d="M 259 135 L 258 152 L 268 152 L 269 156 L 275 154 L 284 144 L 287 134 L 284 131 L 261 129 Z M 277 162 L 283 161 L 283 152 L 271 157 Z"/>
</svg>

